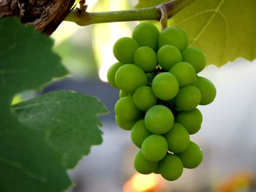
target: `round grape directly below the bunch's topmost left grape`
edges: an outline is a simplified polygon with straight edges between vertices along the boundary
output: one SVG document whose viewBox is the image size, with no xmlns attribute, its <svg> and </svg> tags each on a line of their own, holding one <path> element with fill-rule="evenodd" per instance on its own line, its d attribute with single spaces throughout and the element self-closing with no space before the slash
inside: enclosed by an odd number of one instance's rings
<svg viewBox="0 0 256 192">
<path fill-rule="evenodd" d="M 144 72 L 151 72 L 157 66 L 157 54 L 150 47 L 139 47 L 135 51 L 134 61 Z"/>
</svg>

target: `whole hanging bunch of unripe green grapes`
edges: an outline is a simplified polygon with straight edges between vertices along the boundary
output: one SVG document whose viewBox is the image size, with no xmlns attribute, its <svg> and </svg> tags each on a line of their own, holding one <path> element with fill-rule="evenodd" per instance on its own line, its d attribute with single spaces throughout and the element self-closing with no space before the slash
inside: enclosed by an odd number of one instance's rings
<svg viewBox="0 0 256 192">
<path fill-rule="evenodd" d="M 200 130 L 203 116 L 196 107 L 214 101 L 216 88 L 197 75 L 206 56 L 188 47 L 186 31 L 178 27 L 159 30 L 140 23 L 132 38 L 113 46 L 118 62 L 108 70 L 108 82 L 120 89 L 116 123 L 131 131 L 140 148 L 134 159 L 141 174 L 161 174 L 177 180 L 183 169 L 194 169 L 203 153 L 189 134 Z"/>
</svg>

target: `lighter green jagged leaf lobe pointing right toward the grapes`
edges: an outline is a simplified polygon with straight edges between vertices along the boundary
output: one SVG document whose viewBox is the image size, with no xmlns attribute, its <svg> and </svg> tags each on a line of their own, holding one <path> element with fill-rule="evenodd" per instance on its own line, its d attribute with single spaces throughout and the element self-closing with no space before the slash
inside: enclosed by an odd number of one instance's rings
<svg viewBox="0 0 256 192">
<path fill-rule="evenodd" d="M 20 123 L 45 132 L 45 139 L 59 153 L 62 163 L 73 168 L 91 145 L 102 143 L 102 123 L 107 113 L 98 99 L 72 91 L 54 91 L 12 107 Z"/>
</svg>

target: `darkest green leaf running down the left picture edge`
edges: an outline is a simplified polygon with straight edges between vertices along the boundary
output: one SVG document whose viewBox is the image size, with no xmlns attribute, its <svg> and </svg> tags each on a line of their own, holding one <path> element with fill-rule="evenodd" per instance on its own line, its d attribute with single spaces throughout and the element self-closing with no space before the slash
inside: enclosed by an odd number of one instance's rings
<svg viewBox="0 0 256 192">
<path fill-rule="evenodd" d="M 63 191 L 71 182 L 62 155 L 45 135 L 10 113 L 12 97 L 67 74 L 53 42 L 17 18 L 0 19 L 0 186 L 1 191 Z"/>
</svg>

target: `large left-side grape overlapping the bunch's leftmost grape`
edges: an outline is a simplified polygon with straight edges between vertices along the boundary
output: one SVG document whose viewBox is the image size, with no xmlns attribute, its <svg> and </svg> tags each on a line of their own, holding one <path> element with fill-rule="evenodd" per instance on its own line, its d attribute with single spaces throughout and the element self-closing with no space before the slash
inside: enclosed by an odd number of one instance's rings
<svg viewBox="0 0 256 192">
<path fill-rule="evenodd" d="M 118 88 L 133 93 L 140 86 L 147 84 L 147 76 L 140 67 L 134 64 L 125 64 L 116 72 L 116 85 Z"/>
</svg>

